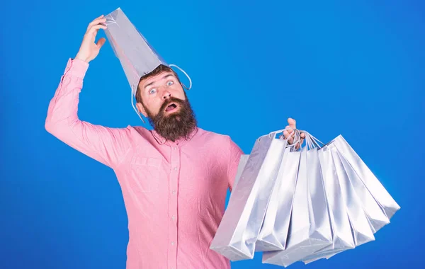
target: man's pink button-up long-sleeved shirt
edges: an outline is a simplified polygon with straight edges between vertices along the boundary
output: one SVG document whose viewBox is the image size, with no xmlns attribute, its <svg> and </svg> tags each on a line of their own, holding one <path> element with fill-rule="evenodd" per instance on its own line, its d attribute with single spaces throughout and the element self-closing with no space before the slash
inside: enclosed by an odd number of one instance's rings
<svg viewBox="0 0 425 269">
<path fill-rule="evenodd" d="M 230 137 L 200 128 L 190 139 L 174 143 L 143 127 L 111 128 L 79 120 L 79 93 L 88 67 L 69 59 L 45 128 L 115 171 L 128 214 L 126 268 L 230 268 L 210 243 L 242 150 Z"/>
</svg>

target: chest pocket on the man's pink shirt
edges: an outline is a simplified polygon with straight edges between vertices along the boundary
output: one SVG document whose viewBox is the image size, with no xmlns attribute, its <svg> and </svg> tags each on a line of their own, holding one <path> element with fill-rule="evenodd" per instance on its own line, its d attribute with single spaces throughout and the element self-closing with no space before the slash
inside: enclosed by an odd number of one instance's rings
<svg viewBox="0 0 425 269">
<path fill-rule="evenodd" d="M 136 193 L 153 193 L 159 188 L 162 160 L 133 156 L 130 161 L 130 187 Z"/>
</svg>

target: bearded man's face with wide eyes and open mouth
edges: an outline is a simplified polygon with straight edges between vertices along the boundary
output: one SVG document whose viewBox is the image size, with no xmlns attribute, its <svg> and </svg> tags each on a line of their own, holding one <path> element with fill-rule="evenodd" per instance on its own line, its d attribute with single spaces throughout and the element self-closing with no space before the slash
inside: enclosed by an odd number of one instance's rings
<svg viewBox="0 0 425 269">
<path fill-rule="evenodd" d="M 196 119 L 183 87 L 173 72 L 164 71 L 140 81 L 140 112 L 159 135 L 175 141 L 188 137 L 196 127 Z"/>
</svg>

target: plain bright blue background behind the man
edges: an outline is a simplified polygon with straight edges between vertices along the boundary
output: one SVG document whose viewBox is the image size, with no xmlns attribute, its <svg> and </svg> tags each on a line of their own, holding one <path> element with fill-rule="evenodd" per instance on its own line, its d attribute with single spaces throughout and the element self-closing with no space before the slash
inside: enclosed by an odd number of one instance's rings
<svg viewBox="0 0 425 269">
<path fill-rule="evenodd" d="M 344 135 L 401 205 L 375 241 L 308 268 L 421 267 L 423 1 L 73 0 L 2 4 L 0 268 L 125 268 L 115 174 L 44 127 L 87 24 L 118 6 L 191 75 L 200 127 L 230 135 L 246 153 L 288 117 L 323 142 Z M 80 97 L 81 120 L 140 125 L 108 42 Z M 232 268 L 278 267 L 258 253 Z"/>
</svg>

